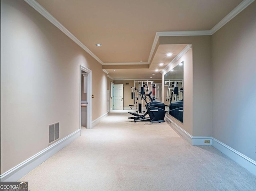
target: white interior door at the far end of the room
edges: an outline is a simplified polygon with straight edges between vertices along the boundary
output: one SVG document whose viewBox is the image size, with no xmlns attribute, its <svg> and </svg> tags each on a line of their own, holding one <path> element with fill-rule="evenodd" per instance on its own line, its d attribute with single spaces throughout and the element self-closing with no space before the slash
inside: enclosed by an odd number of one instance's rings
<svg viewBox="0 0 256 191">
<path fill-rule="evenodd" d="M 114 84 L 113 91 L 114 91 L 114 109 L 124 110 L 124 85 Z"/>
</svg>

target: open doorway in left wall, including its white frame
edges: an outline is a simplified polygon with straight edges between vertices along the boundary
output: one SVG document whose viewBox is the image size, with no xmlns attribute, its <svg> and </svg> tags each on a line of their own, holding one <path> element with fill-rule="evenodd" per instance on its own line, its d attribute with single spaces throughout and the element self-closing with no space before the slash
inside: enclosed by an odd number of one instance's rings
<svg viewBox="0 0 256 191">
<path fill-rule="evenodd" d="M 79 128 L 92 128 L 92 71 L 80 65 Z M 81 134 L 81 131 L 80 131 Z"/>
</svg>

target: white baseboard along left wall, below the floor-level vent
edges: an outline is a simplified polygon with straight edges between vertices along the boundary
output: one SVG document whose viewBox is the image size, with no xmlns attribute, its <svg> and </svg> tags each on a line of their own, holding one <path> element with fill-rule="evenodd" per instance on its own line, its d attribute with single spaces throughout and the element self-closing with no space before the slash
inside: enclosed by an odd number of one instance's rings
<svg viewBox="0 0 256 191">
<path fill-rule="evenodd" d="M 80 136 L 80 129 L 76 130 L 72 134 L 45 148 L 41 152 L 26 159 L 22 163 L 16 165 L 12 169 L 6 171 L 0 175 L 0 181 L 18 181 L 24 175 L 38 167 L 41 163 L 53 156 L 59 150 L 70 144 L 73 140 Z"/>
</svg>

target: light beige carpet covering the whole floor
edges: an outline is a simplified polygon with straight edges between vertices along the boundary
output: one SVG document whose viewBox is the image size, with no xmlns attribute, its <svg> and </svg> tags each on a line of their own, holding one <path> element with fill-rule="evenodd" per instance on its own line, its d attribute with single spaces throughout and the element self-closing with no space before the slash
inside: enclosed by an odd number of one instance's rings
<svg viewBox="0 0 256 191">
<path fill-rule="evenodd" d="M 31 191 L 255 191 L 256 176 L 167 123 L 113 111 L 22 177 Z M 148 124 L 148 125 L 147 125 Z"/>
</svg>

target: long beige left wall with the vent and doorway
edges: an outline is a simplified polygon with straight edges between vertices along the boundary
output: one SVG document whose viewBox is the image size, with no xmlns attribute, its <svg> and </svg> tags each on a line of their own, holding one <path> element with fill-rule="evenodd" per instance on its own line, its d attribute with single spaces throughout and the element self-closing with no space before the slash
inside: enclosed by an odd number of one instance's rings
<svg viewBox="0 0 256 191">
<path fill-rule="evenodd" d="M 102 65 L 24 1 L 1 1 L 1 173 L 79 128 L 80 64 L 92 70 L 92 120 L 107 112 Z"/>
</svg>

